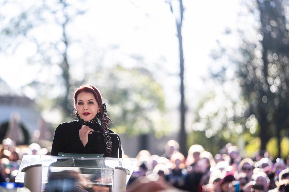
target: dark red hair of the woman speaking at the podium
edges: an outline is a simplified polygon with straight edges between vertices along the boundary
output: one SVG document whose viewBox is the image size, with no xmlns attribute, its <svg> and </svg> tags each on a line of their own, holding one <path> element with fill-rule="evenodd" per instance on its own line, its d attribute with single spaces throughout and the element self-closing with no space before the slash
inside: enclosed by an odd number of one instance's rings
<svg viewBox="0 0 289 192">
<path fill-rule="evenodd" d="M 74 102 L 74 114 L 76 114 L 76 102 L 77 102 L 77 96 L 81 92 L 89 92 L 92 93 L 96 99 L 96 102 L 98 103 L 98 106 L 101 110 L 101 103 L 102 103 L 102 96 L 98 88 L 96 88 L 93 85 L 81 85 L 73 94 L 73 102 Z"/>
</svg>

